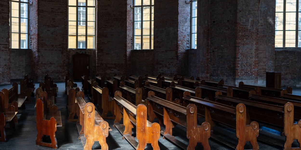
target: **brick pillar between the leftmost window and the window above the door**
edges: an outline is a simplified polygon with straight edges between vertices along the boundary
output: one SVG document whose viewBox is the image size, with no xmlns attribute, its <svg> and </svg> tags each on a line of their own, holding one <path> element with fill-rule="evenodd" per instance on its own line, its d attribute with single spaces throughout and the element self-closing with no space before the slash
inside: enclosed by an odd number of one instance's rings
<svg viewBox="0 0 301 150">
<path fill-rule="evenodd" d="M 68 1 L 33 0 L 30 40 L 35 81 L 42 81 L 46 73 L 63 81 L 68 71 Z"/>
</svg>

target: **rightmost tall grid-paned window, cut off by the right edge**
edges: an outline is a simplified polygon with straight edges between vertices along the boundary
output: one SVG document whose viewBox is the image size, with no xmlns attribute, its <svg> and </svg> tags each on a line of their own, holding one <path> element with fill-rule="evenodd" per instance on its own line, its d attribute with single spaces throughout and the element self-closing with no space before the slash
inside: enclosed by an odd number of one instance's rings
<svg viewBox="0 0 301 150">
<path fill-rule="evenodd" d="M 301 47 L 300 0 L 276 0 L 275 47 Z"/>
</svg>

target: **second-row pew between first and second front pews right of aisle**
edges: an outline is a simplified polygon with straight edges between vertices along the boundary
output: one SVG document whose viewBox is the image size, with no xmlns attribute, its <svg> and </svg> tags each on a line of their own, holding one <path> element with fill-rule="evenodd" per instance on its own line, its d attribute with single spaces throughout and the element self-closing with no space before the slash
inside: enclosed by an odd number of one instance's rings
<svg viewBox="0 0 301 150">
<path fill-rule="evenodd" d="M 98 86 L 98 82 L 93 82 L 93 99 L 94 104 L 98 104 L 98 110 L 102 110 L 103 119 L 115 119 L 114 115 L 114 103 L 109 96 L 109 89 L 107 87 L 101 88 Z M 107 116 L 111 112 L 112 117 Z"/>
</svg>

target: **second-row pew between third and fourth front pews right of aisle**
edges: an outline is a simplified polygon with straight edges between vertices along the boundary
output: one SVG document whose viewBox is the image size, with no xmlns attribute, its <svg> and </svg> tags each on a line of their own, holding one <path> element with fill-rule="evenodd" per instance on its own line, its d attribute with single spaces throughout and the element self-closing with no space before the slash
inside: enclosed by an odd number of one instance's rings
<svg viewBox="0 0 301 150">
<path fill-rule="evenodd" d="M 147 94 L 149 91 L 154 91 L 155 95 L 159 98 L 165 99 L 166 101 L 173 102 L 175 104 L 180 105 L 181 101 L 178 98 L 173 98 L 172 96 L 172 88 L 168 87 L 166 89 L 158 88 L 156 86 L 150 85 L 150 82 L 145 82 L 144 84 L 144 94 L 145 98 L 147 98 Z"/>
</svg>

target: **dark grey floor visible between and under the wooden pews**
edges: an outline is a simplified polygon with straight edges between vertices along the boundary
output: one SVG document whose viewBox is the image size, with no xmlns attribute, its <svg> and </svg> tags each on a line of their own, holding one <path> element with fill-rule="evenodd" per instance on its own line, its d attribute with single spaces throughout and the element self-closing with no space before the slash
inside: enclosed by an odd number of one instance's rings
<svg viewBox="0 0 301 150">
<path fill-rule="evenodd" d="M 81 87 L 81 83 L 77 82 L 78 86 Z M 63 126 L 58 128 L 56 132 L 57 137 L 57 145 L 59 150 L 73 150 L 73 149 L 83 149 L 82 143 L 78 140 L 79 134 L 76 128 L 75 122 L 67 122 L 68 112 L 66 109 L 67 104 L 67 96 L 64 94 L 64 82 L 57 83 L 58 85 L 58 97 L 57 103 L 58 109 L 61 111 L 61 118 Z M 38 84 L 36 84 L 36 87 Z M 0 85 L 0 89 L 2 88 L 10 88 L 11 85 Z M 19 88 L 20 89 L 20 88 Z M 301 95 L 301 88 L 294 88 L 293 94 Z M 86 100 L 88 98 L 85 98 Z M 32 98 L 32 104 L 26 104 L 25 110 L 20 110 L 18 112 L 18 121 L 19 123 L 16 124 L 16 131 L 6 131 L 7 135 L 7 142 L 3 143 L 0 142 L 0 150 L 14 150 L 14 149 L 25 149 L 25 150 L 50 150 L 52 148 L 44 147 L 44 146 L 37 146 L 36 145 L 36 123 L 35 123 L 35 116 L 36 112 L 34 109 L 35 106 L 35 98 Z M 112 131 L 109 132 L 109 136 L 107 137 L 107 144 L 109 146 L 109 150 L 133 150 L 134 148 L 126 141 L 122 140 L 121 134 L 117 131 L 116 128 L 113 128 L 113 120 L 106 120 Z M 200 120 L 202 122 L 202 120 Z M 285 137 L 280 136 L 280 132 L 261 127 L 262 131 L 259 131 L 259 137 L 262 135 L 263 138 L 268 137 L 270 140 L 276 140 L 280 144 L 284 144 Z M 135 130 L 135 128 L 133 129 Z M 186 138 L 186 130 L 183 127 L 176 126 L 173 129 L 173 135 L 178 137 L 179 140 L 184 141 L 188 144 L 188 140 Z M 175 132 L 176 131 L 176 132 Z M 214 134 L 221 137 L 223 140 L 226 140 L 230 143 L 236 144 L 237 138 L 235 135 L 235 131 L 230 128 L 226 128 L 223 126 L 216 126 L 214 128 Z M 133 134 L 135 135 L 135 134 Z M 263 143 L 262 141 L 258 140 L 259 149 L 262 150 L 281 150 L 283 149 L 280 146 L 273 146 L 268 143 Z M 209 145 L 211 150 L 233 150 L 229 147 L 222 145 L 214 140 L 209 139 Z M 296 142 L 295 142 L 296 145 Z M 177 146 L 170 143 L 168 140 L 163 139 L 162 137 L 159 139 L 159 146 L 161 150 L 178 150 Z M 93 149 L 101 149 L 99 143 L 95 142 Z M 147 145 L 147 150 L 151 150 L 151 145 Z M 203 149 L 201 144 L 198 144 L 196 149 Z M 251 149 L 250 144 L 247 143 L 245 149 Z"/>
</svg>

